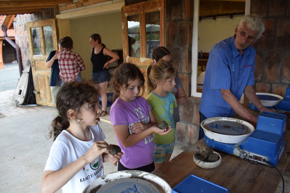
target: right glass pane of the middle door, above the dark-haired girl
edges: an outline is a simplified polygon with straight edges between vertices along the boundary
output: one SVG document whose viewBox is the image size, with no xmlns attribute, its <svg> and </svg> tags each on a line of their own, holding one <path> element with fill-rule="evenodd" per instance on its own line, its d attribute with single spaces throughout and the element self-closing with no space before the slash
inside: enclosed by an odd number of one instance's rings
<svg viewBox="0 0 290 193">
<path fill-rule="evenodd" d="M 146 58 L 152 58 L 152 52 L 160 47 L 160 12 L 146 13 Z"/>
</svg>

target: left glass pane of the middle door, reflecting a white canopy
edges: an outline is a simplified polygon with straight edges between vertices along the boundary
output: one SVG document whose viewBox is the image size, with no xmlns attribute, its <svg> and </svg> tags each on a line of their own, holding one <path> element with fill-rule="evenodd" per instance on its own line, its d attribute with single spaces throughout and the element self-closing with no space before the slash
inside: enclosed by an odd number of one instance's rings
<svg viewBox="0 0 290 193">
<path fill-rule="evenodd" d="M 140 57 L 140 23 L 139 15 L 131 15 L 128 19 L 129 57 Z"/>
</svg>

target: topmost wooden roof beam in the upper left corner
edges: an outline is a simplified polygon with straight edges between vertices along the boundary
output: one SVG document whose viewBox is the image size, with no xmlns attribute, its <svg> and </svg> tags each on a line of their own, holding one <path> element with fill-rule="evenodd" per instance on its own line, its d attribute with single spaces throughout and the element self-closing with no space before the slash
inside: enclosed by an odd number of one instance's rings
<svg viewBox="0 0 290 193">
<path fill-rule="evenodd" d="M 73 3 L 73 0 L 27 0 L 27 1 L 0 1 L 0 7 L 20 7 L 20 6 L 38 6 L 38 5 L 58 5 L 63 3 Z"/>
</svg>

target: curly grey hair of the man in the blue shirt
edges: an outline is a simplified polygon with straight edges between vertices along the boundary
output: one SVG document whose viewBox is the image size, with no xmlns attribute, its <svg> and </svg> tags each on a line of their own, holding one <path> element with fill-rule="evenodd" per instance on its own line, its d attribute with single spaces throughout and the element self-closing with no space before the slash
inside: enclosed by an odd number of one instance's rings
<svg viewBox="0 0 290 193">
<path fill-rule="evenodd" d="M 249 14 L 243 16 L 243 18 L 239 23 L 238 30 L 241 29 L 243 24 L 246 24 L 247 27 L 250 28 L 251 30 L 259 32 L 255 40 L 258 40 L 265 31 L 264 20 L 257 14 Z"/>
</svg>

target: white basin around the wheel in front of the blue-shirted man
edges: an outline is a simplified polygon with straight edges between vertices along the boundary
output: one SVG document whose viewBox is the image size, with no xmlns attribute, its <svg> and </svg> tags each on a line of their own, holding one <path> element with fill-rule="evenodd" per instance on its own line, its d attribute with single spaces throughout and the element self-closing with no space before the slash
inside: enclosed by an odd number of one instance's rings
<svg viewBox="0 0 290 193">
<path fill-rule="evenodd" d="M 243 135 L 223 135 L 223 134 L 219 134 L 219 133 L 214 133 L 213 131 L 205 128 L 204 126 L 214 122 L 214 121 L 233 121 L 233 122 L 238 122 L 243 124 L 244 126 L 247 127 L 247 131 L 245 134 Z M 213 117 L 213 118 L 209 118 L 206 120 L 203 120 L 200 123 L 201 127 L 204 130 L 204 135 L 206 135 L 206 137 L 208 137 L 209 139 L 213 139 L 214 141 L 218 141 L 221 143 L 226 143 L 226 144 L 236 144 L 244 139 L 246 139 L 249 135 L 251 135 L 251 133 L 255 130 L 255 127 L 243 120 L 239 120 L 239 119 L 235 119 L 235 118 L 229 118 L 229 117 Z"/>
</svg>

